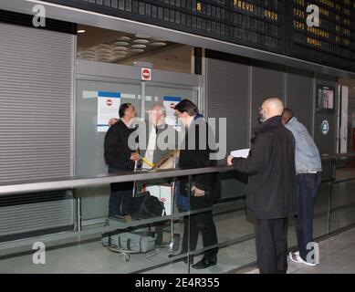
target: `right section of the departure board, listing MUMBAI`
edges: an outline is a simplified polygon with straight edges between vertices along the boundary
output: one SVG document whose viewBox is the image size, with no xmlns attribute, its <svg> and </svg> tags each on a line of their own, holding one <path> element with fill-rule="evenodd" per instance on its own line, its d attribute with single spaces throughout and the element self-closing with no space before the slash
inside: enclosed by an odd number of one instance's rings
<svg viewBox="0 0 355 292">
<path fill-rule="evenodd" d="M 355 71 L 355 1 L 290 0 L 287 55 Z M 317 5 L 318 25 L 307 25 L 307 6 Z"/>
</svg>

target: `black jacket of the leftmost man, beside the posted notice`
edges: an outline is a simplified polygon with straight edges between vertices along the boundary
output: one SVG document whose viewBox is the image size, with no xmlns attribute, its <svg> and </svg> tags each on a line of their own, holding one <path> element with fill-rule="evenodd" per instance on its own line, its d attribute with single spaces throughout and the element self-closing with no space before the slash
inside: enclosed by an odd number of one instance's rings
<svg viewBox="0 0 355 292">
<path fill-rule="evenodd" d="M 122 120 L 119 120 L 106 132 L 104 155 L 105 161 L 110 167 L 122 171 L 134 169 L 134 162 L 131 161 L 133 151 L 128 145 L 129 137 L 134 130 L 128 128 Z"/>
</svg>

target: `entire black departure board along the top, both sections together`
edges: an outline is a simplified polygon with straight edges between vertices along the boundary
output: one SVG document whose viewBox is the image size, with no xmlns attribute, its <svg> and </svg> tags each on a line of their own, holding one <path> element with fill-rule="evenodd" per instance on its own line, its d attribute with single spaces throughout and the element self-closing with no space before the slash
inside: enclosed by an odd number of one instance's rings
<svg viewBox="0 0 355 292">
<path fill-rule="evenodd" d="M 355 0 L 45 0 L 355 72 Z M 308 26 L 308 5 L 319 26 Z"/>
</svg>

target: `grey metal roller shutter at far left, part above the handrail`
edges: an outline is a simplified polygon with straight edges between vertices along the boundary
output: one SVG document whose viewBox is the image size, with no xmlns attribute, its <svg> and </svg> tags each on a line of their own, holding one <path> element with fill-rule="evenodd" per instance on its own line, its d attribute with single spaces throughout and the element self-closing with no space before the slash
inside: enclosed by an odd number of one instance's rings
<svg viewBox="0 0 355 292">
<path fill-rule="evenodd" d="M 0 183 L 71 174 L 73 42 L 0 23 Z"/>
</svg>

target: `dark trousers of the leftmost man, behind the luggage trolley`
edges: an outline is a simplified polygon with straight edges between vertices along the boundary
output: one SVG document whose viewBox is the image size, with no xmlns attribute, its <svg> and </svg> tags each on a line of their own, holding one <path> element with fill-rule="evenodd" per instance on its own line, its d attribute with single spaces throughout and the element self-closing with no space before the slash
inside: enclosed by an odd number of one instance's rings
<svg viewBox="0 0 355 292">
<path fill-rule="evenodd" d="M 109 167 L 109 173 L 120 172 L 121 170 Z M 115 215 L 127 215 L 131 213 L 131 198 L 133 194 L 133 182 L 111 183 L 109 217 Z"/>
</svg>

